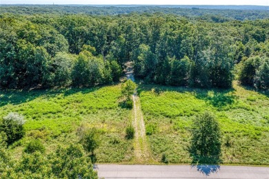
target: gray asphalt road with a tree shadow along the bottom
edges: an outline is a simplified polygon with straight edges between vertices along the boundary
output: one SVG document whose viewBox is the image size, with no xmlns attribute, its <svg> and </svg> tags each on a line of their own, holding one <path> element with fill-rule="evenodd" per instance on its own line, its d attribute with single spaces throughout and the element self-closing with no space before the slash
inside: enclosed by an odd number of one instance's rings
<svg viewBox="0 0 269 179">
<path fill-rule="evenodd" d="M 190 165 L 96 165 L 99 178 L 269 179 L 269 167 Z"/>
</svg>

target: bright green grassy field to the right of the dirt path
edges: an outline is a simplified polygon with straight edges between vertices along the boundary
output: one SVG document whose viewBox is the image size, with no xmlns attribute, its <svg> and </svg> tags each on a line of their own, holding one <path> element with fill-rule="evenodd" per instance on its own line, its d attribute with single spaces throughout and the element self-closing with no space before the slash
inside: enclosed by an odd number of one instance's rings
<svg viewBox="0 0 269 179">
<path fill-rule="evenodd" d="M 190 163 L 192 119 L 207 110 L 221 127 L 224 164 L 269 165 L 268 94 L 235 82 L 229 90 L 141 85 L 139 96 L 155 160 L 165 153 L 171 163 Z"/>
</svg>

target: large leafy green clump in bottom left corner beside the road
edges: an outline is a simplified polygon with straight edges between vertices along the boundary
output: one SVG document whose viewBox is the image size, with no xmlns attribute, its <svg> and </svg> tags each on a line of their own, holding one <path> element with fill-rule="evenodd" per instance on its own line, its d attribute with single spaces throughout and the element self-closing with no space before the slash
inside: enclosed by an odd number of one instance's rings
<svg viewBox="0 0 269 179">
<path fill-rule="evenodd" d="M 6 171 L 8 178 L 98 178 L 81 145 L 69 145 L 65 148 L 58 146 L 48 156 L 43 156 L 39 151 L 33 154 L 24 153 L 21 160 L 14 165 L 12 177 L 10 171 L 13 170 Z M 5 172 L 3 174 L 5 176 Z"/>
</svg>

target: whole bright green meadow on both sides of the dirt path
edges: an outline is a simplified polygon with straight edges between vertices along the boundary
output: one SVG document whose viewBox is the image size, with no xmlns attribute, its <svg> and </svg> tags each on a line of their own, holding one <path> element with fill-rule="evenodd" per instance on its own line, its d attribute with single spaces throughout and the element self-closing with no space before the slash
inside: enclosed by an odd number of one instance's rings
<svg viewBox="0 0 269 179">
<path fill-rule="evenodd" d="M 221 127 L 223 164 L 269 165 L 268 94 L 236 83 L 228 90 L 139 85 L 138 93 L 152 162 L 166 154 L 170 163 L 190 164 L 192 119 L 210 111 Z M 30 139 L 41 140 L 47 154 L 78 143 L 83 125 L 101 131 L 97 162 L 134 163 L 134 140 L 125 138 L 133 113 L 121 105 L 120 85 L 2 91 L 0 101 L 0 118 L 18 112 L 26 119 L 26 136 L 9 147 L 14 159 Z"/>
</svg>

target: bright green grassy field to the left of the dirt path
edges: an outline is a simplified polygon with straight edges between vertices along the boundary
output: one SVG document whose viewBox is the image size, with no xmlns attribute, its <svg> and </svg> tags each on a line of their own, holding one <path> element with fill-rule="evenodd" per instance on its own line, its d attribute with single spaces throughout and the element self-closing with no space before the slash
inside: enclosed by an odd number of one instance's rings
<svg viewBox="0 0 269 179">
<path fill-rule="evenodd" d="M 26 136 L 10 146 L 19 158 L 29 140 L 42 141 L 46 152 L 57 145 L 78 143 L 77 129 L 84 125 L 101 131 L 97 162 L 129 162 L 133 158 L 132 141 L 125 139 L 125 129 L 132 112 L 119 105 L 121 86 L 90 89 L 2 91 L 0 120 L 9 112 L 22 114 Z"/>
</svg>

